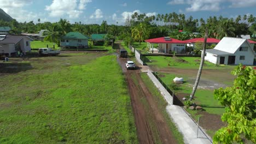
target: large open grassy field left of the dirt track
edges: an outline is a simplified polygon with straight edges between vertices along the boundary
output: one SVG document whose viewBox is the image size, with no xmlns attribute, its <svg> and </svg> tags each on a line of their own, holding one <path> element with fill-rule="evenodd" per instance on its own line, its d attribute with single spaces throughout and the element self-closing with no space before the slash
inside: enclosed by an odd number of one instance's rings
<svg viewBox="0 0 256 144">
<path fill-rule="evenodd" d="M 0 143 L 138 143 L 124 76 L 116 56 L 103 55 L 4 64 Z"/>
</svg>

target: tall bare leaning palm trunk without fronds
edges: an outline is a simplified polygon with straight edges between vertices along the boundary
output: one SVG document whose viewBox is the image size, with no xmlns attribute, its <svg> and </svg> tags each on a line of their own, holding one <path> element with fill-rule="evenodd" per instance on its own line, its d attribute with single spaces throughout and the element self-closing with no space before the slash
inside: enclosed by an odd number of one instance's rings
<svg viewBox="0 0 256 144">
<path fill-rule="evenodd" d="M 203 41 L 203 49 L 202 49 L 202 55 L 201 55 L 201 62 L 200 62 L 200 66 L 197 72 L 197 76 L 196 76 L 196 81 L 195 81 L 195 85 L 193 87 L 193 91 L 190 94 L 190 98 L 189 100 L 192 100 L 194 98 L 197 86 L 199 84 L 200 81 L 200 77 L 202 74 L 202 68 L 203 68 L 203 63 L 205 63 L 205 50 L 206 50 L 206 41 L 207 41 L 207 35 L 208 35 L 208 29 L 206 29 L 205 31 L 205 40 Z"/>
</svg>

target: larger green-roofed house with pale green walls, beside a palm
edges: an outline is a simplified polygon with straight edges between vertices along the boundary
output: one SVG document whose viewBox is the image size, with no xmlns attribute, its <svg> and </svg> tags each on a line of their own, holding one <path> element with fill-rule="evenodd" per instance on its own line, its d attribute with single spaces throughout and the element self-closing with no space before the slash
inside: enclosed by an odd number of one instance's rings
<svg viewBox="0 0 256 144">
<path fill-rule="evenodd" d="M 79 32 L 69 32 L 61 38 L 61 47 L 65 49 L 88 48 L 88 37 Z"/>
</svg>

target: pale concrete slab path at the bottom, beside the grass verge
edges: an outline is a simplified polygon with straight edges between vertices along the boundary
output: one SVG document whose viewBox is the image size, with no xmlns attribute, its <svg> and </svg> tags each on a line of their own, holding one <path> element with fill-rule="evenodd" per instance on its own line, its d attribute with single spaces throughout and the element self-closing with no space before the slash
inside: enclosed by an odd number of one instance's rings
<svg viewBox="0 0 256 144">
<path fill-rule="evenodd" d="M 166 107 L 167 112 L 171 116 L 173 122 L 177 125 L 177 128 L 184 136 L 184 143 L 190 144 L 210 144 L 212 143 L 211 137 L 208 136 L 205 131 L 199 129 L 198 137 L 197 124 L 188 116 L 181 106 L 168 105 Z M 200 122 L 199 122 L 200 125 Z"/>
</svg>

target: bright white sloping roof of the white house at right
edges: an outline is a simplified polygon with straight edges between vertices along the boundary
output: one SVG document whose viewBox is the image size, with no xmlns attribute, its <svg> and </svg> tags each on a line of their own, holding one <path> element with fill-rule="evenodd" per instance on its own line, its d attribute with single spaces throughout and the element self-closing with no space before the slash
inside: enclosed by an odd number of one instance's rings
<svg viewBox="0 0 256 144">
<path fill-rule="evenodd" d="M 216 47 L 214 47 L 214 49 L 229 53 L 235 53 L 236 50 L 243 43 L 245 43 L 245 41 L 246 39 L 224 37 L 222 40 L 220 40 L 219 44 L 217 44 Z"/>
</svg>

